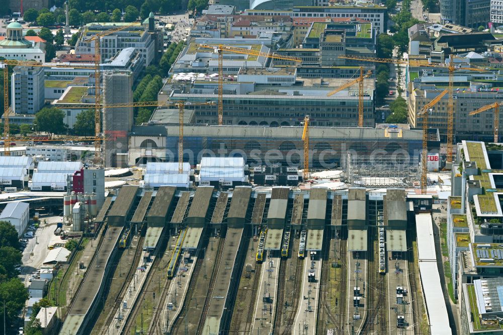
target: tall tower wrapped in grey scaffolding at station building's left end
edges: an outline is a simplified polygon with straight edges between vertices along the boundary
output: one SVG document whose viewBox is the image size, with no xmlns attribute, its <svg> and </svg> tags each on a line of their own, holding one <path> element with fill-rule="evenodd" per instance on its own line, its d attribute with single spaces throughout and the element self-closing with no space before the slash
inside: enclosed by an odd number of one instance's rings
<svg viewBox="0 0 503 335">
<path fill-rule="evenodd" d="M 130 71 L 106 71 L 103 74 L 103 104 L 133 103 L 133 76 Z M 133 108 L 103 109 L 105 166 L 127 166 L 128 133 L 133 125 Z"/>
</svg>

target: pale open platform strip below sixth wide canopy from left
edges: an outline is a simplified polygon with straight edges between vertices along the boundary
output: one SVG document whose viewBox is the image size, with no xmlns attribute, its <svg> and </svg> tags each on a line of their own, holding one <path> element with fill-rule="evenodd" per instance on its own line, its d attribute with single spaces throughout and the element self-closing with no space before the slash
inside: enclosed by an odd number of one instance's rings
<svg viewBox="0 0 503 335">
<path fill-rule="evenodd" d="M 315 282 L 309 282 L 307 274 L 314 271 Z M 293 323 L 293 335 L 315 335 L 318 316 L 318 299 L 321 278 L 321 261 L 304 261 L 298 310 Z"/>
</svg>

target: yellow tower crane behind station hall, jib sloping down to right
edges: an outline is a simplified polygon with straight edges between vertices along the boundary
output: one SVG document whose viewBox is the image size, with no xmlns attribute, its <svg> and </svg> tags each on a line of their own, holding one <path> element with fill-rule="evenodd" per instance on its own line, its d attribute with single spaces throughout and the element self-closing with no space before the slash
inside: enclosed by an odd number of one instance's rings
<svg viewBox="0 0 503 335">
<path fill-rule="evenodd" d="M 302 61 L 300 58 L 297 57 L 275 55 L 270 54 L 268 52 L 236 48 L 222 44 L 218 45 L 200 44 L 200 46 L 207 49 L 213 49 L 215 53 L 218 54 L 218 125 L 220 126 L 223 124 L 223 53 L 224 52 L 239 53 L 243 55 L 262 56 L 274 59 L 291 60 L 294 62 Z"/>
</svg>

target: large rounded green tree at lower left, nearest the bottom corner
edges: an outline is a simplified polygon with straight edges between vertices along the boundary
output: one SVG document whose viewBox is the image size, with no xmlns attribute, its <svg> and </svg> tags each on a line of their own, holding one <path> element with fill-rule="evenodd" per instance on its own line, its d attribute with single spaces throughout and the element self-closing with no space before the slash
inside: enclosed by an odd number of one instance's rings
<svg viewBox="0 0 503 335">
<path fill-rule="evenodd" d="M 6 324 L 10 328 L 18 318 L 19 311 L 25 305 L 28 299 L 28 290 L 19 278 L 0 282 L 0 302 L 6 304 Z M 0 324 L 3 328 L 3 318 L 0 318 Z"/>
</svg>

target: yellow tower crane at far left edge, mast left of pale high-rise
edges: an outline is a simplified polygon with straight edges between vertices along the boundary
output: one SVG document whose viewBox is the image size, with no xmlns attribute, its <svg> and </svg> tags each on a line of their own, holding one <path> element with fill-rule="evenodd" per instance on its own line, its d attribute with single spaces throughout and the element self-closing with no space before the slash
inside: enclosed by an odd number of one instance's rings
<svg viewBox="0 0 503 335">
<path fill-rule="evenodd" d="M 17 66 L 38 66 L 38 67 L 61 67 L 61 68 L 82 68 L 90 69 L 94 68 L 94 65 L 90 66 L 73 66 L 67 64 L 59 63 L 40 63 L 34 60 L 14 60 L 14 59 L 3 59 L 0 61 L 0 68 L 4 70 L 4 154 L 9 156 L 11 149 L 10 139 L 10 126 L 9 126 L 9 65 Z M 98 138 L 98 133 L 96 134 Z M 16 138 L 16 140 L 18 140 Z"/>
</svg>

